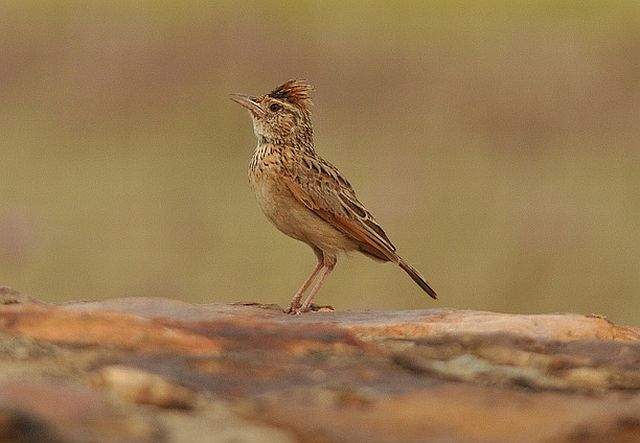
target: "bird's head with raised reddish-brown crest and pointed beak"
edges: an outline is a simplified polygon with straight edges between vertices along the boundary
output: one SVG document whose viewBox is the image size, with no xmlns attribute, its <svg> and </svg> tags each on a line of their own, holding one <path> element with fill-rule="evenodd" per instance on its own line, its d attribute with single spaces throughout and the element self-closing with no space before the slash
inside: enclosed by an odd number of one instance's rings
<svg viewBox="0 0 640 443">
<path fill-rule="evenodd" d="M 258 140 L 309 143 L 313 137 L 312 90 L 304 80 L 289 80 L 263 96 L 231 94 L 231 100 L 249 110 Z"/>
</svg>

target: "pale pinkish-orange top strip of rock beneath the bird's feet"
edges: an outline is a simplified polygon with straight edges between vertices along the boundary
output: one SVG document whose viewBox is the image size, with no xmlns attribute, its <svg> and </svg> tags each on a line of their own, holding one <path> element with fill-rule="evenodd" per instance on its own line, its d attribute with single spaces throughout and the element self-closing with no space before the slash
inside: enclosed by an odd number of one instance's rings
<svg viewBox="0 0 640 443">
<path fill-rule="evenodd" d="M 640 341 L 640 328 L 627 328 L 598 315 L 570 313 L 518 315 L 458 309 L 418 309 L 413 311 L 310 312 L 291 317 L 277 305 L 256 303 L 194 305 L 178 300 L 126 298 L 70 303 L 73 311 L 107 310 L 147 318 L 176 320 L 260 320 L 288 325 L 322 323 L 346 328 L 364 337 L 436 337 L 442 335 L 494 335 L 544 337 L 554 340 Z"/>
</svg>

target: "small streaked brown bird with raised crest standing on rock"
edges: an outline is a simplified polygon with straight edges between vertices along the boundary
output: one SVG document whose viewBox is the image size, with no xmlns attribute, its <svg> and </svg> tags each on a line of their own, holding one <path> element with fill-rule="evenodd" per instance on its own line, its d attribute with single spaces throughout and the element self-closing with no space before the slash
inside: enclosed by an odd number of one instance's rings
<svg viewBox="0 0 640 443">
<path fill-rule="evenodd" d="M 338 255 L 352 251 L 398 264 L 436 299 L 427 280 L 398 255 L 349 181 L 316 152 L 312 91 L 306 80 L 293 79 L 265 95 L 230 96 L 249 111 L 253 121 L 258 144 L 248 175 L 258 205 L 276 228 L 308 244 L 317 258 L 315 268 L 285 312 L 300 315 L 312 310 L 312 302 L 336 266 Z M 318 274 L 320 277 L 302 302 Z"/>
</svg>

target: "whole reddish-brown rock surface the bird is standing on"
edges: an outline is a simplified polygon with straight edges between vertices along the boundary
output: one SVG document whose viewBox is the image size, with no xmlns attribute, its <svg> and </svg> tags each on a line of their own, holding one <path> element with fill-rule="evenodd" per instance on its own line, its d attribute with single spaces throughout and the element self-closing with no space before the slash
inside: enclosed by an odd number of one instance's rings
<svg viewBox="0 0 640 443">
<path fill-rule="evenodd" d="M 640 441 L 599 316 L 0 301 L 0 442 Z"/>
</svg>

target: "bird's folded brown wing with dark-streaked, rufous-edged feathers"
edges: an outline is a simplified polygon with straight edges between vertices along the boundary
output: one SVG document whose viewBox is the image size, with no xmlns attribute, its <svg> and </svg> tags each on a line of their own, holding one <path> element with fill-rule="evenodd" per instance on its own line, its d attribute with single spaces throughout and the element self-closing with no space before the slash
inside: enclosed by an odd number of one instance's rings
<svg viewBox="0 0 640 443">
<path fill-rule="evenodd" d="M 383 261 L 398 261 L 395 246 L 335 166 L 305 155 L 288 172 L 285 183 L 305 206 L 357 240 L 365 254 Z"/>
</svg>

